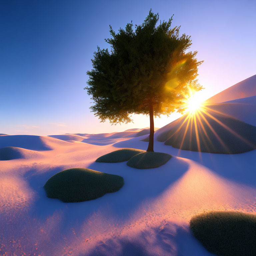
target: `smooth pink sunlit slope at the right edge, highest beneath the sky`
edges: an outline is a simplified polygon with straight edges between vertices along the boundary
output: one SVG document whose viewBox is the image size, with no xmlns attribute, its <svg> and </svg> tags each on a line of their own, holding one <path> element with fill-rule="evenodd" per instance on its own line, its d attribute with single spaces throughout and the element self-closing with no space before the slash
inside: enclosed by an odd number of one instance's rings
<svg viewBox="0 0 256 256">
<path fill-rule="evenodd" d="M 251 76 L 212 96 L 207 103 L 220 103 L 256 95 L 256 75 Z"/>
</svg>

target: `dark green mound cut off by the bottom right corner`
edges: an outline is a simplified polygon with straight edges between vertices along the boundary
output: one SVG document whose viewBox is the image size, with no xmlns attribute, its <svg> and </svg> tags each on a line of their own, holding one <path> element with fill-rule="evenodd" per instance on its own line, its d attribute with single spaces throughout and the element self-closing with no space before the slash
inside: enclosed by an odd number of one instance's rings
<svg viewBox="0 0 256 256">
<path fill-rule="evenodd" d="M 256 216 L 240 212 L 209 212 L 193 217 L 194 236 L 211 253 L 256 255 Z"/>
</svg>

